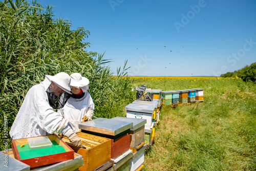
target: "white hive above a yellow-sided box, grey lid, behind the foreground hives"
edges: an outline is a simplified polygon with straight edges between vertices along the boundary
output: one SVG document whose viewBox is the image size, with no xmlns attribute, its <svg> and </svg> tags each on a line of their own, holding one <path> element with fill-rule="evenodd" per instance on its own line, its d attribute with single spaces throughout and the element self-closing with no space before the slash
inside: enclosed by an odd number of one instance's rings
<svg viewBox="0 0 256 171">
<path fill-rule="evenodd" d="M 125 106 L 126 117 L 136 119 L 146 119 L 145 124 L 145 144 L 150 145 L 155 137 L 156 130 L 156 105 L 130 103 Z"/>
</svg>

